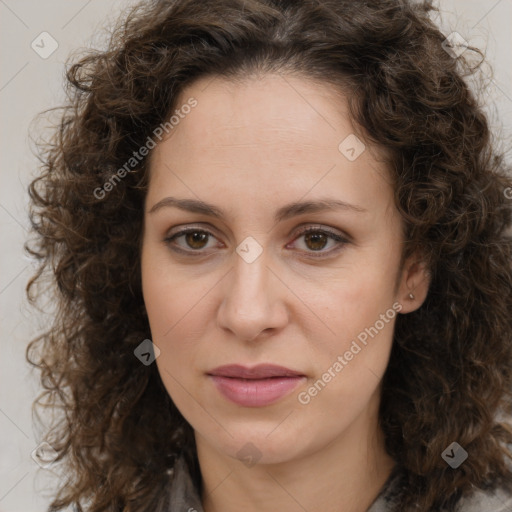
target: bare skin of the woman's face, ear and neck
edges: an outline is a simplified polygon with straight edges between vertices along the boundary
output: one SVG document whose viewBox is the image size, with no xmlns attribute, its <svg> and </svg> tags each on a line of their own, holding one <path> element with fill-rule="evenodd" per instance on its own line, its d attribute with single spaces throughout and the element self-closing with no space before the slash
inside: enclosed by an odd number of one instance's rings
<svg viewBox="0 0 512 512">
<path fill-rule="evenodd" d="M 190 97 L 197 106 L 150 155 L 141 265 L 156 364 L 194 429 L 205 511 L 364 511 L 393 466 L 378 406 L 396 317 L 308 404 L 298 394 L 394 303 L 406 314 L 426 296 L 418 258 L 400 268 L 402 221 L 384 153 L 365 142 L 349 161 L 338 149 L 355 133 L 345 98 L 305 78 L 201 79 L 178 106 Z M 151 211 L 168 196 L 212 203 L 225 217 Z M 274 220 L 285 204 L 320 198 L 364 211 Z M 299 233 L 307 226 L 348 241 L 315 245 Z M 185 227 L 212 235 L 165 241 Z M 236 252 L 249 236 L 262 249 L 252 263 Z M 274 404 L 242 407 L 206 375 L 233 363 L 278 364 L 306 378 Z M 237 456 L 248 442 L 259 457 L 250 466 Z"/>
</svg>

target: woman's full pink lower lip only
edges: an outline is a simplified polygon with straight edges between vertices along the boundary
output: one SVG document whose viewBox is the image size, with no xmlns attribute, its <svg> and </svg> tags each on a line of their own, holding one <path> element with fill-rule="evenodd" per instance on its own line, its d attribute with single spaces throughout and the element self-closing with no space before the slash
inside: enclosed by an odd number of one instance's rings
<svg viewBox="0 0 512 512">
<path fill-rule="evenodd" d="M 305 377 L 272 377 L 269 379 L 236 379 L 211 375 L 217 389 L 228 400 L 243 407 L 263 407 L 289 394 Z"/>
</svg>

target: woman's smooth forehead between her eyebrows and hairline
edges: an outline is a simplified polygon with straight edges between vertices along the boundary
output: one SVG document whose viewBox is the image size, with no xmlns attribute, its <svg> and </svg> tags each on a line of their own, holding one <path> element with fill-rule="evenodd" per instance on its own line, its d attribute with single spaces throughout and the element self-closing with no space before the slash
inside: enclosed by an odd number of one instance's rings
<svg viewBox="0 0 512 512">
<path fill-rule="evenodd" d="M 182 92 L 175 110 L 191 98 L 197 105 L 151 155 L 153 194 L 185 186 L 188 195 L 211 197 L 234 187 L 262 197 L 285 189 L 298 199 L 340 190 L 368 203 L 389 181 L 383 152 L 356 135 L 346 98 L 328 84 L 204 78 Z"/>
</svg>

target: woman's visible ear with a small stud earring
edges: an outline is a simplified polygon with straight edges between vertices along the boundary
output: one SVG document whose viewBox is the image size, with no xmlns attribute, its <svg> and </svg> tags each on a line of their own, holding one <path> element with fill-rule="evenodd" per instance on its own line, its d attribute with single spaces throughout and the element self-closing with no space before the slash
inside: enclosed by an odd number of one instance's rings
<svg viewBox="0 0 512 512">
<path fill-rule="evenodd" d="M 400 313 L 416 311 L 425 301 L 430 286 L 430 272 L 418 254 L 404 263 L 400 275 L 397 300 L 402 304 Z"/>
</svg>

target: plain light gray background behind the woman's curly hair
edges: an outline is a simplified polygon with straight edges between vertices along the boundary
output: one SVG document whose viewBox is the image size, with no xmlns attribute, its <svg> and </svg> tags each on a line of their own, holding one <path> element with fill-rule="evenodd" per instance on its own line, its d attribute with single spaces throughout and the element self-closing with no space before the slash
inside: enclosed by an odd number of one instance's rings
<svg viewBox="0 0 512 512">
<path fill-rule="evenodd" d="M 25 348 L 45 320 L 27 306 L 24 292 L 33 270 L 22 250 L 28 228 L 26 188 L 37 172 L 29 123 L 38 112 L 62 103 L 70 52 L 101 48 L 105 27 L 133 3 L 0 0 L 0 512 L 42 512 L 52 495 L 51 468 L 40 469 L 30 456 L 40 439 L 30 408 L 39 375 L 25 362 Z M 486 50 L 494 78 L 484 99 L 493 126 L 510 137 L 512 0 L 441 0 L 440 8 L 438 22 L 445 34 L 457 31 Z M 59 45 L 47 59 L 31 48 L 43 31 Z M 490 80 L 489 71 L 485 77 Z"/>
</svg>

